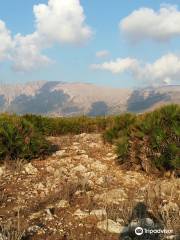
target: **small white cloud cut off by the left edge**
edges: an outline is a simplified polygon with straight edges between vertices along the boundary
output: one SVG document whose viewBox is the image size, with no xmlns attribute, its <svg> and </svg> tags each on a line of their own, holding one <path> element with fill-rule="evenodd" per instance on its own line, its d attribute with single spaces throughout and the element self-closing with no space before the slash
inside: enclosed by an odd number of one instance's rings
<svg viewBox="0 0 180 240">
<path fill-rule="evenodd" d="M 13 41 L 11 39 L 11 33 L 6 28 L 3 21 L 0 20 L 0 61 L 8 59 L 9 51 L 13 48 Z"/>
</svg>

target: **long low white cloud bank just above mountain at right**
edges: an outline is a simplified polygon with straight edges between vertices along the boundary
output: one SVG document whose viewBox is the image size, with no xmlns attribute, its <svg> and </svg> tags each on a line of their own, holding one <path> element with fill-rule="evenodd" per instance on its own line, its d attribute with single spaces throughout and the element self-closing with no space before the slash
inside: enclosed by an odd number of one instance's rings
<svg viewBox="0 0 180 240">
<path fill-rule="evenodd" d="M 180 56 L 169 53 L 153 63 L 142 63 L 134 58 L 118 58 L 115 61 L 93 64 L 91 68 L 108 70 L 113 74 L 129 72 L 136 80 L 148 84 L 171 83 L 180 79 Z"/>
</svg>

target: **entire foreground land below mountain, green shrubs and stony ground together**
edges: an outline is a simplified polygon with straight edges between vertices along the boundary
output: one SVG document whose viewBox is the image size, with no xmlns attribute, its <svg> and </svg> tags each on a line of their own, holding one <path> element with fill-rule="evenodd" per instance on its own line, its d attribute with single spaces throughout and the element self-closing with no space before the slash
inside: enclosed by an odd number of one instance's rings
<svg viewBox="0 0 180 240">
<path fill-rule="evenodd" d="M 0 239 L 179 240 L 179 126 L 179 105 L 101 118 L 2 114 Z M 137 238 L 137 227 L 154 232 Z"/>
</svg>

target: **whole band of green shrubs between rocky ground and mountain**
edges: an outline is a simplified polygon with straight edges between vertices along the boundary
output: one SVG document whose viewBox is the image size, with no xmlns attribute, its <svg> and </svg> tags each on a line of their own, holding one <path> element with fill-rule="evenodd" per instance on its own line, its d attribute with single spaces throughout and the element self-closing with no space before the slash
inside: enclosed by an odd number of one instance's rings
<svg viewBox="0 0 180 240">
<path fill-rule="evenodd" d="M 132 152 L 151 160 L 160 170 L 180 168 L 180 106 L 168 105 L 153 112 L 109 117 L 45 117 L 0 115 L 0 159 L 31 159 L 50 151 L 46 136 L 102 132 L 116 144 L 121 162 Z"/>
</svg>

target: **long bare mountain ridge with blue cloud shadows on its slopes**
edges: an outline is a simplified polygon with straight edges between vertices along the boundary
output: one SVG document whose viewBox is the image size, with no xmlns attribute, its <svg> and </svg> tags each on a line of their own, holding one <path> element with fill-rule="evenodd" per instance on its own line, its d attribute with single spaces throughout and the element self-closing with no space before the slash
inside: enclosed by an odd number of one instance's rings
<svg viewBox="0 0 180 240">
<path fill-rule="evenodd" d="M 144 112 L 180 103 L 180 86 L 121 89 L 88 83 L 30 82 L 0 85 L 0 112 L 56 116 Z"/>
</svg>

